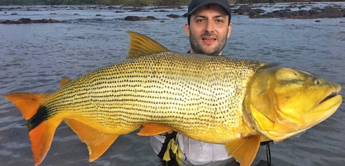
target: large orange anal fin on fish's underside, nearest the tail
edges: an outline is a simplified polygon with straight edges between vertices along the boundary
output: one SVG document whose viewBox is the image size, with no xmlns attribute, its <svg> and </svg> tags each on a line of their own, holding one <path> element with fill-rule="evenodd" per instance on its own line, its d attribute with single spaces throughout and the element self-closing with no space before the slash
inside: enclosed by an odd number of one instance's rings
<svg viewBox="0 0 345 166">
<path fill-rule="evenodd" d="M 105 134 L 87 125 L 77 118 L 68 118 L 64 122 L 77 133 L 80 140 L 88 145 L 90 159 L 94 161 L 100 157 L 115 141 L 119 135 Z"/>
</svg>

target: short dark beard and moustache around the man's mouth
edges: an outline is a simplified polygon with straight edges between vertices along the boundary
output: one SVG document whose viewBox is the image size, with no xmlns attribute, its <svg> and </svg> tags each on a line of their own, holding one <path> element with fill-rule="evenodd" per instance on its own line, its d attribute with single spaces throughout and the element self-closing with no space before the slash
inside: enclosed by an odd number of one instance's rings
<svg viewBox="0 0 345 166">
<path fill-rule="evenodd" d="M 213 33 L 204 32 L 199 37 L 195 36 L 191 31 L 189 31 L 189 42 L 190 42 L 190 48 L 196 53 L 196 54 L 206 54 L 206 55 L 219 55 L 219 53 L 222 52 L 224 49 L 227 37 L 224 36 L 222 38 L 219 38 L 217 35 Z M 226 33 L 227 34 L 227 33 Z M 212 37 L 217 38 L 218 45 L 215 46 L 213 49 L 204 49 L 201 44 L 199 43 L 202 38 L 204 37 Z"/>
</svg>

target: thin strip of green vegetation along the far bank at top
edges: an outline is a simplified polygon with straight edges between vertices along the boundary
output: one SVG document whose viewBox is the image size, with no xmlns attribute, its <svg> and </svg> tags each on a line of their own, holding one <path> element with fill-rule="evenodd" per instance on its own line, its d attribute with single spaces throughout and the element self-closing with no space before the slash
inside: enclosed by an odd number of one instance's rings
<svg viewBox="0 0 345 166">
<path fill-rule="evenodd" d="M 229 3 L 284 3 L 284 2 L 320 2 L 344 0 L 229 0 Z M 1 5 L 187 5 L 190 0 L 0 0 Z"/>
</svg>

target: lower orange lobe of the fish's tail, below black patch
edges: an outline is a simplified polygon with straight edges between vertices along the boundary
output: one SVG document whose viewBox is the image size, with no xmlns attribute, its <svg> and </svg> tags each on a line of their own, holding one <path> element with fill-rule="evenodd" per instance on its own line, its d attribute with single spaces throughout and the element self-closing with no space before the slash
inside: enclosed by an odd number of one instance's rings
<svg viewBox="0 0 345 166">
<path fill-rule="evenodd" d="M 35 165 L 39 165 L 46 157 L 53 141 L 54 133 L 61 120 L 49 119 L 40 123 L 29 132 L 31 150 Z"/>
</svg>

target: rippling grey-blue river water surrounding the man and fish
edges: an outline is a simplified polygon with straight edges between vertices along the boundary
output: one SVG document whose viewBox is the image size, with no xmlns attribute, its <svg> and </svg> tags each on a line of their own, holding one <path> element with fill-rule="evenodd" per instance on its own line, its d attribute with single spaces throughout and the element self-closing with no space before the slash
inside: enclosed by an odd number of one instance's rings
<svg viewBox="0 0 345 166">
<path fill-rule="evenodd" d="M 318 3 L 313 6 L 329 5 Z M 344 3 L 338 3 L 345 6 Z M 273 5 L 274 9 L 282 5 Z M 179 52 L 189 49 L 184 34 L 185 18 L 169 19 L 169 12 L 78 10 L 75 6 L 39 11 L 16 10 L 1 19 L 53 18 L 64 23 L 0 25 L 0 96 L 9 92 L 53 92 L 63 76 L 76 78 L 104 65 L 125 59 L 129 37 L 125 31 L 143 33 Z M 147 9 L 149 9 L 147 7 Z M 272 10 L 271 9 L 271 10 Z M 11 12 L 18 13 L 10 15 Z M 50 14 L 55 13 L 55 14 Z M 78 13 L 78 15 L 74 15 Z M 95 16 L 101 14 L 102 16 Z M 124 21 L 127 15 L 155 16 L 153 21 Z M 82 19 L 81 19 L 82 18 Z M 345 84 L 344 18 L 249 19 L 233 15 L 233 29 L 224 55 L 278 62 L 307 70 Z M 341 91 L 344 95 L 344 92 Z M 271 147 L 273 165 L 344 165 L 344 104 L 326 121 L 299 138 Z M 26 121 L 13 104 L 0 98 L 0 165 L 33 165 Z M 261 149 L 255 161 L 265 159 Z M 262 157 L 264 156 L 264 157 Z M 87 147 L 65 124 L 61 124 L 42 165 L 157 165 L 149 138 L 135 132 L 120 136 L 96 161 L 89 162 Z"/>
</svg>

